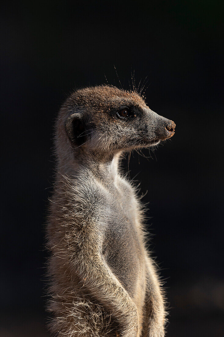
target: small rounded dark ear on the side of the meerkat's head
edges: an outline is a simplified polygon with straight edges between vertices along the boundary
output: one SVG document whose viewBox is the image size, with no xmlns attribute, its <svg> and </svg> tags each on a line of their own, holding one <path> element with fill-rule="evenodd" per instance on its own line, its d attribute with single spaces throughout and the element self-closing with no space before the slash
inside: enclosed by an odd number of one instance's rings
<svg viewBox="0 0 224 337">
<path fill-rule="evenodd" d="M 86 142 L 85 122 L 80 113 L 72 114 L 66 119 L 65 130 L 71 143 L 80 146 Z"/>
</svg>

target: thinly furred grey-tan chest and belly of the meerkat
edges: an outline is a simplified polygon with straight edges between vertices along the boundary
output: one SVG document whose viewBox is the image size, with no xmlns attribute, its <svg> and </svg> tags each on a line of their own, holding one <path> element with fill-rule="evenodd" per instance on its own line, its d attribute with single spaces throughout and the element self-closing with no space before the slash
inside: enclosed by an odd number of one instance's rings
<svg viewBox="0 0 224 337">
<path fill-rule="evenodd" d="M 125 289 L 135 296 L 144 277 L 144 243 L 138 202 L 125 188 L 112 193 L 109 199 L 109 210 L 104 218 L 104 256 Z"/>
</svg>

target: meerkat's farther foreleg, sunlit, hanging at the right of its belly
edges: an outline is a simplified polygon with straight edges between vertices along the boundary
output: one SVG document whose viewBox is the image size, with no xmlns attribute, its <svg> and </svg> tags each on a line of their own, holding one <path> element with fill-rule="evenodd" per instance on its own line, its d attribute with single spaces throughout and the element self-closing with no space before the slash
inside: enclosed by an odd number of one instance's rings
<svg viewBox="0 0 224 337">
<path fill-rule="evenodd" d="M 147 258 L 147 285 L 142 337 L 164 337 L 165 308 L 160 284 L 151 258 Z"/>
</svg>

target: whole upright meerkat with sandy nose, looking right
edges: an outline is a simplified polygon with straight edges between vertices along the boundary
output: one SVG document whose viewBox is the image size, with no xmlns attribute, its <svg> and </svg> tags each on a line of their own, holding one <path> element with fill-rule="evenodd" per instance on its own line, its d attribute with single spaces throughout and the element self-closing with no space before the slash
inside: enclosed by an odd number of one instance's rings
<svg viewBox="0 0 224 337">
<path fill-rule="evenodd" d="M 47 225 L 53 336 L 164 336 L 144 207 L 119 163 L 125 151 L 153 147 L 174 129 L 137 92 L 113 86 L 77 90 L 62 105 Z"/>
</svg>

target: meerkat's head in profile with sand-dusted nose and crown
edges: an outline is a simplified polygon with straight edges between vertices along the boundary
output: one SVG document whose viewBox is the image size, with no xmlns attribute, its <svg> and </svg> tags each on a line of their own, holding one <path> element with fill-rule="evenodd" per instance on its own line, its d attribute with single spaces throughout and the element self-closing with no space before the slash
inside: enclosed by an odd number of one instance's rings
<svg viewBox="0 0 224 337">
<path fill-rule="evenodd" d="M 58 126 L 74 151 L 115 153 L 154 146 L 172 137 L 176 125 L 150 110 L 136 92 L 97 86 L 80 89 L 67 99 Z"/>
</svg>

